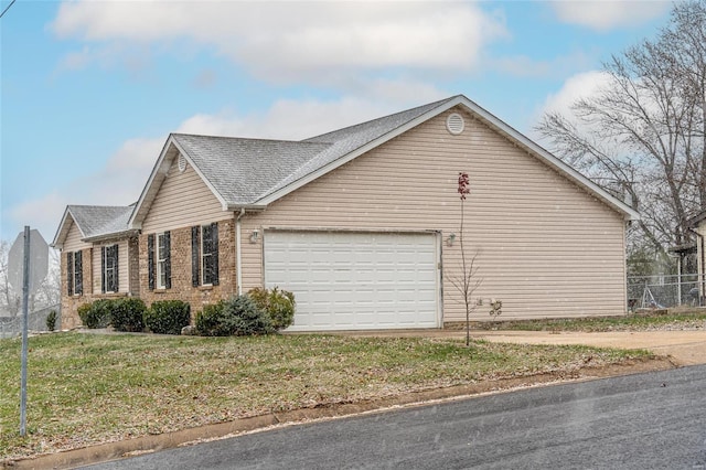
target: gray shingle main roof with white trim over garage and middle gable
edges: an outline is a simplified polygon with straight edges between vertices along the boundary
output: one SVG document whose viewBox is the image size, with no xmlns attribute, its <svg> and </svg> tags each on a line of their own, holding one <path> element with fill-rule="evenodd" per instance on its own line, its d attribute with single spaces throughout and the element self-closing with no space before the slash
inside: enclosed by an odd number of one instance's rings
<svg viewBox="0 0 706 470">
<path fill-rule="evenodd" d="M 225 211 L 261 209 L 457 105 L 466 107 L 478 119 L 511 141 L 586 186 L 609 205 L 624 213 L 628 220 L 639 218 L 639 214 L 623 202 L 616 200 L 475 103 L 463 95 L 457 95 L 300 141 L 172 133 L 140 195 L 129 224 L 136 228 L 140 227 L 179 153 L 193 163 Z"/>
</svg>

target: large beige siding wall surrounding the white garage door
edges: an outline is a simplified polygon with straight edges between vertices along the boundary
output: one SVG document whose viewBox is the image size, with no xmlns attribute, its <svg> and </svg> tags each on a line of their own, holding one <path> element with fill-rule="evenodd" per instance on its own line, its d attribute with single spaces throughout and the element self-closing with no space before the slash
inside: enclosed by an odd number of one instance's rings
<svg viewBox="0 0 706 470">
<path fill-rule="evenodd" d="M 461 113 L 460 136 L 446 130 Z M 464 244 L 478 250 L 474 297 L 501 299 L 503 318 L 618 314 L 625 311 L 622 214 L 520 150 L 462 109 L 445 113 L 243 220 L 244 290 L 263 281 L 255 228 L 440 231 L 443 321 L 464 309 L 449 282 L 460 266 L 459 171 L 470 177 Z M 266 239 L 265 239 L 266 243 Z M 473 314 L 490 319 L 486 305 Z"/>
</svg>

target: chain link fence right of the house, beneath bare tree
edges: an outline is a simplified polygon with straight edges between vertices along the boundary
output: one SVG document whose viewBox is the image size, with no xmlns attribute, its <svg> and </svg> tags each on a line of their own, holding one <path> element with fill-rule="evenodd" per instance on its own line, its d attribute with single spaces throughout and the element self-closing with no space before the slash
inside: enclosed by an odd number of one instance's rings
<svg viewBox="0 0 706 470">
<path fill-rule="evenodd" d="M 628 308 L 704 307 L 704 277 L 697 275 L 634 276 L 628 278 Z"/>
</svg>

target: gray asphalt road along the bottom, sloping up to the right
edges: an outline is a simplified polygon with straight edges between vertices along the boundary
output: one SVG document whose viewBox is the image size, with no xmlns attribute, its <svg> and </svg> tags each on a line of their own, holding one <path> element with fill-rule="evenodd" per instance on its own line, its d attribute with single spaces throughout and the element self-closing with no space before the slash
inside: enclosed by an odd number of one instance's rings
<svg viewBox="0 0 706 470">
<path fill-rule="evenodd" d="M 706 365 L 291 426 L 92 469 L 706 469 Z"/>
</svg>

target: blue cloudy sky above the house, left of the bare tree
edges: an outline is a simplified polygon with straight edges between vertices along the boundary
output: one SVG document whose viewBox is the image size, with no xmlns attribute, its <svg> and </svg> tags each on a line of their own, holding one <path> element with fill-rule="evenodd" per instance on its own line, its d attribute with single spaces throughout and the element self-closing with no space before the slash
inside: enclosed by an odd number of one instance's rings
<svg viewBox="0 0 706 470">
<path fill-rule="evenodd" d="M 463 94 L 535 138 L 670 8 L 18 0 L 0 19 L 0 237 L 51 243 L 66 204 L 135 202 L 169 132 L 301 139 Z"/>
</svg>

